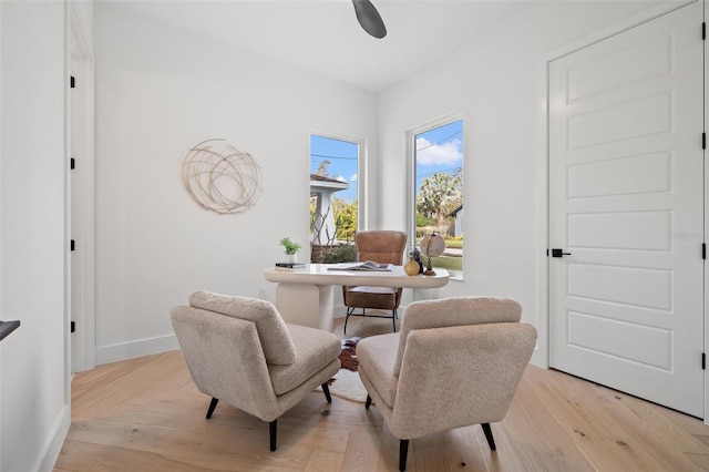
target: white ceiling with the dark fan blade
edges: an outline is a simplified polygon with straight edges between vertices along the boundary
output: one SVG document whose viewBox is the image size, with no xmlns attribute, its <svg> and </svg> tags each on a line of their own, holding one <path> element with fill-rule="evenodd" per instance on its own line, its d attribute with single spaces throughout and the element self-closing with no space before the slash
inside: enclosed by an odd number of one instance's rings
<svg viewBox="0 0 709 472">
<path fill-rule="evenodd" d="M 351 0 L 105 0 L 319 75 L 380 92 L 542 0 L 372 0 L 388 34 L 367 34 Z M 564 0 L 624 10 L 659 0 Z"/>
</svg>

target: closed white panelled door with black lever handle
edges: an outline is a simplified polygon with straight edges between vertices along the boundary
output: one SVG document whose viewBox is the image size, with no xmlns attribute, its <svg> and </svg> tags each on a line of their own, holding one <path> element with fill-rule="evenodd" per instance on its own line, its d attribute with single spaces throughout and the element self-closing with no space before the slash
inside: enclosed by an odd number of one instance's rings
<svg viewBox="0 0 709 472">
<path fill-rule="evenodd" d="M 548 75 L 549 365 L 696 417 L 701 22 L 692 3 L 553 61 Z"/>
</svg>

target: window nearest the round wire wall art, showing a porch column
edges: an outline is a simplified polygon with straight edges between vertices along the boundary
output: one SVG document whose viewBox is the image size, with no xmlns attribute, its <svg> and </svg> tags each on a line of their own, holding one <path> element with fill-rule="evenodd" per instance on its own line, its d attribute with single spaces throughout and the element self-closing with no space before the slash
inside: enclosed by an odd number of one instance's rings
<svg viewBox="0 0 709 472">
<path fill-rule="evenodd" d="M 354 260 L 358 228 L 358 140 L 310 135 L 310 260 Z"/>
</svg>

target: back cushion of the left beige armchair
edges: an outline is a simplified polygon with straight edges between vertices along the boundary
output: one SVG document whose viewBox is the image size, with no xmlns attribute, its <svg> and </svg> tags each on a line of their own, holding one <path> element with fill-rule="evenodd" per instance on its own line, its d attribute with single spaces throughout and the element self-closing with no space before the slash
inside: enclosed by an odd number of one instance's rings
<svg viewBox="0 0 709 472">
<path fill-rule="evenodd" d="M 296 361 L 295 346 L 286 322 L 268 301 L 209 291 L 195 291 L 189 296 L 189 305 L 203 310 L 253 321 L 264 349 L 266 363 L 287 366 Z"/>
</svg>

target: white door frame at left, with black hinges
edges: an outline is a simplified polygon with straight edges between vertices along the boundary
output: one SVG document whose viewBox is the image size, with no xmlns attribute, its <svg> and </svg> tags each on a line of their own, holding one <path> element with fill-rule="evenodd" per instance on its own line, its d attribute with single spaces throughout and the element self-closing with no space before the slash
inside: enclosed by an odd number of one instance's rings
<svg viewBox="0 0 709 472">
<path fill-rule="evenodd" d="M 66 290 L 69 301 L 69 315 L 75 317 L 76 331 L 71 334 L 66 330 L 66 346 L 76 343 L 78 358 L 70 360 L 71 371 L 82 371 L 95 367 L 95 339 L 94 339 L 94 73 L 93 55 L 91 48 L 85 40 L 81 29 L 81 23 L 73 2 L 69 2 L 69 54 L 68 61 L 71 65 L 71 55 L 79 58 L 79 70 L 73 71 L 76 81 L 75 93 L 81 93 L 81 122 L 73 123 L 71 100 L 66 110 L 66 121 L 70 126 L 78 125 L 78 143 L 71 143 L 71 148 L 80 150 L 81 160 L 82 194 L 79 202 L 72 202 L 71 187 L 69 192 L 69 214 L 68 222 L 70 235 L 78 240 L 80 250 L 72 257 L 72 263 L 68 264 Z M 73 130 L 70 129 L 69 140 Z M 68 173 L 72 171 L 68 168 Z M 69 182 L 71 176 L 68 176 Z M 71 228 L 71 213 L 81 213 L 81 227 Z M 71 237 L 71 236 L 70 236 Z M 72 264 L 76 263 L 81 273 L 79 280 L 72 277 Z M 73 286 L 79 284 L 79 299 L 71 297 Z"/>
</svg>

